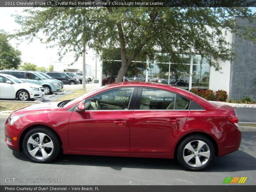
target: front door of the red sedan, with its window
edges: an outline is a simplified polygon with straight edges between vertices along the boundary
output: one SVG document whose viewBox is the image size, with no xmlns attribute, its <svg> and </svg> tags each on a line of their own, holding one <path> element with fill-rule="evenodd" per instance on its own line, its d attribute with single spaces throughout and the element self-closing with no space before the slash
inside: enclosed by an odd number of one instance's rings
<svg viewBox="0 0 256 192">
<path fill-rule="evenodd" d="M 137 89 L 111 89 L 85 100 L 85 112 L 74 111 L 69 119 L 70 150 L 129 153 Z"/>
</svg>

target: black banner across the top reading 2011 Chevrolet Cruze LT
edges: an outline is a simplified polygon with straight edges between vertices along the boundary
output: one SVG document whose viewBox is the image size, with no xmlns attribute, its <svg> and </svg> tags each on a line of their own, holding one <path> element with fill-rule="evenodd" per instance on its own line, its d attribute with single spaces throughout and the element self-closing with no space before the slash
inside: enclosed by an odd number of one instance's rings
<svg viewBox="0 0 256 192">
<path fill-rule="evenodd" d="M 1 0 L 0 7 L 255 7 L 256 0 Z"/>
</svg>

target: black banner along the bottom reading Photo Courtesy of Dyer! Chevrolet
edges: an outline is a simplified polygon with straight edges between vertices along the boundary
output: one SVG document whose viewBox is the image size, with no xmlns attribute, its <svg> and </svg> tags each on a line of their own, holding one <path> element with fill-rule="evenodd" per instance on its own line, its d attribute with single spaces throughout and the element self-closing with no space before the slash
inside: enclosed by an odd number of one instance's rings
<svg viewBox="0 0 256 192">
<path fill-rule="evenodd" d="M 246 191 L 251 192 L 255 191 L 255 186 L 252 185 L 218 185 L 218 186 L 111 186 L 111 185 L 78 185 L 78 186 L 71 186 L 71 185 L 65 185 L 65 186 L 49 186 L 49 185 L 41 185 L 41 186 L 29 186 L 29 185 L 10 185 L 10 186 L 0 186 L 1 192 L 81 192 L 81 191 L 94 191 L 94 192 L 198 192 L 198 191 L 207 191 L 207 192 L 240 192 L 240 191 Z"/>
</svg>

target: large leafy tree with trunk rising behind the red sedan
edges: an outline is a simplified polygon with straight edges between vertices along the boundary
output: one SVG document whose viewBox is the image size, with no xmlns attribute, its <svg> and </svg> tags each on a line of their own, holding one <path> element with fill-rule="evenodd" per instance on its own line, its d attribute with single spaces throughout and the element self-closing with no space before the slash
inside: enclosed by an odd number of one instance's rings
<svg viewBox="0 0 256 192">
<path fill-rule="evenodd" d="M 38 37 L 38 32 L 43 32 L 47 38 L 40 38 L 42 42 L 58 41 L 60 58 L 67 52 L 75 52 L 74 61 L 82 55 L 85 44 L 96 52 L 102 47 L 120 47 L 122 62 L 116 82 L 122 81 L 132 60 L 141 54 L 154 60 L 159 50 L 175 63 L 179 63 L 177 52 L 211 54 L 216 62 L 211 61 L 210 65 L 220 70 L 217 59 L 226 61 L 233 57 L 225 38 L 227 31 L 255 39 L 255 28 L 242 28 L 232 19 L 239 16 L 255 20 L 255 14 L 248 7 L 241 7 L 240 3 L 246 0 L 225 1 L 230 7 L 224 7 L 221 1 L 214 1 L 215 6 L 219 3 L 218 7 L 205 7 L 197 0 L 177 2 L 170 4 L 173 7 L 28 9 L 25 16 L 16 17 L 21 25 L 17 35 L 32 40 Z M 193 4 L 198 7 L 189 7 Z M 177 5 L 179 7 L 175 7 Z"/>
</svg>

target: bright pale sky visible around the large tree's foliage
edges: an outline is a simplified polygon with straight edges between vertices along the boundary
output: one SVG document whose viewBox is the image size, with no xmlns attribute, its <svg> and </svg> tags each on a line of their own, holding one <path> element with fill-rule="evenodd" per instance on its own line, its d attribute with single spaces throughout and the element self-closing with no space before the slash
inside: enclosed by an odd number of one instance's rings
<svg viewBox="0 0 256 192">
<path fill-rule="evenodd" d="M 256 12 L 256 7 L 251 7 L 252 12 Z M 0 29 L 7 33 L 14 33 L 15 29 L 19 29 L 20 25 L 15 22 L 12 14 L 21 13 L 23 8 L 18 7 L 0 7 Z M 10 41 L 13 47 L 22 52 L 21 60 L 24 62 L 34 63 L 38 67 L 48 68 L 54 61 L 58 61 L 58 48 L 46 48 L 46 44 L 42 44 L 38 39 L 34 39 L 29 43 L 28 40 L 17 42 L 12 39 Z M 17 43 L 20 43 L 17 45 Z M 70 56 L 70 55 L 67 55 Z"/>
</svg>

